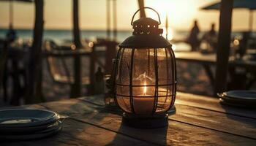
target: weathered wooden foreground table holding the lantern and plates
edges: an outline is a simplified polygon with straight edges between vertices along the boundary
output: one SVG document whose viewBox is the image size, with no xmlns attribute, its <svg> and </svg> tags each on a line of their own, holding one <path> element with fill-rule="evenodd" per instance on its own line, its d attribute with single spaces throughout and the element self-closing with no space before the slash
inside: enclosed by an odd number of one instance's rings
<svg viewBox="0 0 256 146">
<path fill-rule="evenodd" d="M 103 96 L 53 101 L 24 108 L 68 115 L 63 130 L 45 139 L 5 145 L 256 145 L 256 110 L 222 106 L 218 99 L 177 93 L 176 113 L 166 128 L 138 129 L 121 123 L 121 111 Z"/>
</svg>

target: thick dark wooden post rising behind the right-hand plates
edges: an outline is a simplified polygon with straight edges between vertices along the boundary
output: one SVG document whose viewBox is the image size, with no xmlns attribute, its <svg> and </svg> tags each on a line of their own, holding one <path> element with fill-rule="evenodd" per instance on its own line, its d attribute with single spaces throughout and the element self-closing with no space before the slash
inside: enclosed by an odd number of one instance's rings
<svg viewBox="0 0 256 146">
<path fill-rule="evenodd" d="M 219 15 L 219 37 L 217 47 L 217 69 L 215 95 L 227 88 L 227 68 L 230 53 L 233 0 L 222 0 Z"/>
</svg>

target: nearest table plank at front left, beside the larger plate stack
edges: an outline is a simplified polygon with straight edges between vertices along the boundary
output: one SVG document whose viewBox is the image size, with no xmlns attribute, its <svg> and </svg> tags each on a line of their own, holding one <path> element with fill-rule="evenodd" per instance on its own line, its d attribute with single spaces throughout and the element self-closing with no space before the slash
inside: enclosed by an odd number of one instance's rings
<svg viewBox="0 0 256 146">
<path fill-rule="evenodd" d="M 20 142 L 1 142 L 5 145 L 152 145 L 138 139 L 132 139 L 104 128 L 91 126 L 77 120 L 64 120 L 64 127 L 59 134 L 45 139 Z"/>
</svg>

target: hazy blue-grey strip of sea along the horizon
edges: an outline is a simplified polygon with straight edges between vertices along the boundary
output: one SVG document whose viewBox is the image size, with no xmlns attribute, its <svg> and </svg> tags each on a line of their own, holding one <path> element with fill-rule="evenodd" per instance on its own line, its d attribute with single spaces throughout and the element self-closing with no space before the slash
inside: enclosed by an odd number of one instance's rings
<svg viewBox="0 0 256 146">
<path fill-rule="evenodd" d="M 178 39 L 184 40 L 187 38 L 189 31 L 173 31 L 172 29 L 168 29 L 170 39 Z M 19 39 L 29 40 L 33 37 L 33 31 L 31 29 L 16 29 L 17 35 Z M 7 29 L 0 28 L 0 39 L 3 39 L 7 33 Z M 203 36 L 205 32 L 200 32 L 200 36 Z M 101 30 L 81 30 L 80 31 L 81 39 L 89 39 L 95 40 L 97 38 L 107 38 L 106 31 Z M 117 41 L 122 42 L 124 39 L 132 35 L 132 31 L 117 31 Z M 164 34 L 165 36 L 165 30 Z M 233 32 L 232 37 L 241 37 L 241 33 Z M 254 32 L 252 36 L 256 37 L 256 33 Z M 168 38 L 169 38 L 168 37 Z M 69 42 L 72 40 L 72 31 L 71 30 L 54 30 L 48 29 L 44 31 L 43 34 L 44 39 L 52 39 L 57 44 L 61 44 L 64 42 Z M 173 44 L 173 48 L 175 50 L 189 50 L 189 45 L 185 43 Z"/>
</svg>

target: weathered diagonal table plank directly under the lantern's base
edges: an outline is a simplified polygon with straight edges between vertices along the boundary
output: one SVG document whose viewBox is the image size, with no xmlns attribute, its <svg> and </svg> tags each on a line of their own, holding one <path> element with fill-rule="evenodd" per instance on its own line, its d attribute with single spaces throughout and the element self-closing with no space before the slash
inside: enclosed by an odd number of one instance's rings
<svg viewBox="0 0 256 146">
<path fill-rule="evenodd" d="M 238 137 L 233 134 L 226 134 L 220 131 L 210 130 L 208 128 L 202 128 L 193 126 L 186 123 L 180 123 L 176 121 L 170 121 L 167 129 L 155 129 L 155 130 L 138 130 L 135 128 L 129 128 L 121 124 L 121 116 L 115 112 L 109 113 L 103 107 L 99 107 L 90 103 L 83 103 L 81 101 L 73 101 L 75 103 L 48 103 L 45 106 L 50 107 L 51 110 L 61 112 L 62 114 L 70 114 L 69 116 L 76 117 L 85 120 L 89 123 L 94 123 L 98 126 L 111 129 L 116 132 L 122 132 L 123 134 L 129 134 L 131 137 L 137 137 L 148 142 L 159 143 L 160 145 L 255 145 L 256 141 L 247 139 L 244 137 Z M 68 106 L 72 105 L 72 108 Z M 67 108 L 61 110 L 59 107 Z M 75 105 L 75 106 L 74 106 Z M 94 109 L 97 107 L 97 109 Z M 86 113 L 80 111 L 80 114 L 74 114 L 77 110 L 86 108 Z M 89 113 L 91 109 L 91 113 Z M 111 112 L 111 111 L 110 111 Z M 189 122 L 185 120 L 186 122 Z M 148 137 L 154 137 L 148 139 Z M 181 139 L 183 137 L 183 139 Z M 203 137 L 203 138 L 202 138 Z M 219 143 L 221 142 L 221 143 Z M 235 144 L 234 144 L 235 142 Z"/>
</svg>

